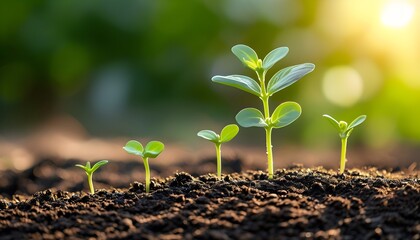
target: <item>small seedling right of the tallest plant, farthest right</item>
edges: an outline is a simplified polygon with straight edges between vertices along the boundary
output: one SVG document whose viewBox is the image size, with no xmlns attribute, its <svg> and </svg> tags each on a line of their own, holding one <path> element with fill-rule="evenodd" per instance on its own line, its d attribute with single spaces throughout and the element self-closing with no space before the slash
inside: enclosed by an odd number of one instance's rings
<svg viewBox="0 0 420 240">
<path fill-rule="evenodd" d="M 341 158 L 340 158 L 340 174 L 344 172 L 346 167 L 346 151 L 347 151 L 347 139 L 349 138 L 350 134 L 353 132 L 354 127 L 362 124 L 366 120 L 366 115 L 358 116 L 350 125 L 347 124 L 345 121 L 337 121 L 333 117 L 324 114 L 323 117 L 327 118 L 328 121 L 337 129 L 338 136 L 341 138 Z"/>
</svg>

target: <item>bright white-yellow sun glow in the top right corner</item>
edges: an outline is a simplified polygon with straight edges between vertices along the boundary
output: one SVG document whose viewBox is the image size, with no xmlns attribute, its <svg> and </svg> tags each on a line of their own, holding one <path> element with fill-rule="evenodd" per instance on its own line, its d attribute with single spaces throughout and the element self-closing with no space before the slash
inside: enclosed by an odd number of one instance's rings
<svg viewBox="0 0 420 240">
<path fill-rule="evenodd" d="M 382 9 L 382 24 L 388 27 L 400 28 L 406 26 L 414 14 L 414 6 L 408 1 L 393 0 Z"/>
</svg>

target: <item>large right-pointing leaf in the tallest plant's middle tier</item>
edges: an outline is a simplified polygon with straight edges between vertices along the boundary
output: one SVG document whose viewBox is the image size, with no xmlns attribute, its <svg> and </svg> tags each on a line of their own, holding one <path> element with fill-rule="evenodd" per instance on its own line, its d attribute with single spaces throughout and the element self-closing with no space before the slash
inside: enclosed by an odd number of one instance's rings
<svg viewBox="0 0 420 240">
<path fill-rule="evenodd" d="M 273 95 L 274 93 L 292 85 L 306 74 L 312 72 L 314 68 L 315 65 L 312 63 L 303 63 L 278 71 L 268 82 L 268 94 Z"/>
</svg>

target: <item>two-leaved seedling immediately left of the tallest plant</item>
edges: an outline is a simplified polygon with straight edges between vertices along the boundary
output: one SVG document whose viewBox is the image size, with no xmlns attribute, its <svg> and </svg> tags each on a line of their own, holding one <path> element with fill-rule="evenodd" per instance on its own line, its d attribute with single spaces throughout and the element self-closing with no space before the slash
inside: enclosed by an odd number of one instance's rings
<svg viewBox="0 0 420 240">
<path fill-rule="evenodd" d="M 222 132 L 219 134 L 211 130 L 201 130 L 197 133 L 197 136 L 213 142 L 216 146 L 216 159 L 217 159 L 217 177 L 219 180 L 222 178 L 222 143 L 229 142 L 232 140 L 236 134 L 239 132 L 239 127 L 236 124 L 227 125 L 222 129 Z"/>
</svg>

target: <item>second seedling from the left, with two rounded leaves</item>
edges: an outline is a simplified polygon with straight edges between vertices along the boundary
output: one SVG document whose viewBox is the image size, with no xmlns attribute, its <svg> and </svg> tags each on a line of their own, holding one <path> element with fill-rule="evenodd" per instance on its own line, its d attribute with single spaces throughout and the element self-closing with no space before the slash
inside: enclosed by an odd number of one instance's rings
<svg viewBox="0 0 420 240">
<path fill-rule="evenodd" d="M 143 159 L 144 170 L 146 172 L 146 192 L 150 191 L 150 168 L 149 168 L 149 158 L 156 158 L 163 151 L 165 145 L 159 141 L 149 142 L 145 148 L 141 145 L 140 142 L 135 140 L 130 140 L 125 144 L 123 149 L 130 154 L 140 156 Z"/>
</svg>

